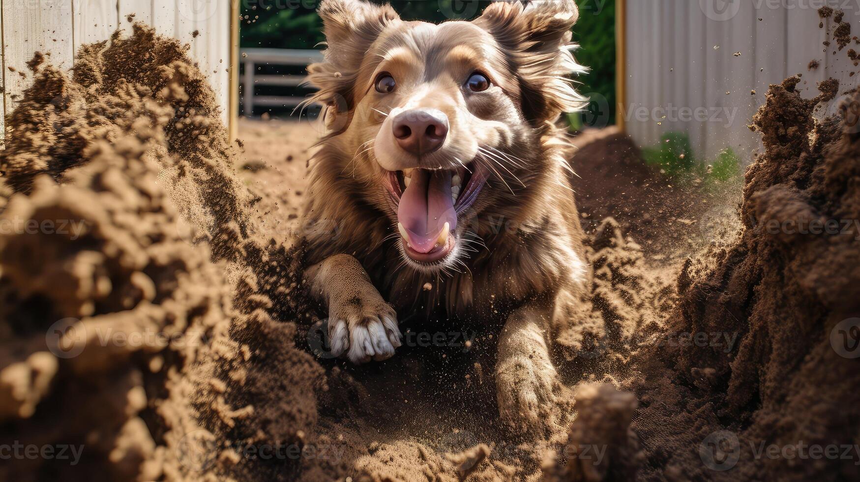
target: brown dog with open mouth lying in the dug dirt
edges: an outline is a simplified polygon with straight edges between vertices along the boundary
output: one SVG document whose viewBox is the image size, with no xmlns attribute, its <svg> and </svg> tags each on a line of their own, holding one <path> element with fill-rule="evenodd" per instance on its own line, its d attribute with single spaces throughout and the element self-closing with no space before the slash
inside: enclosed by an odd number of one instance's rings
<svg viewBox="0 0 860 482">
<path fill-rule="evenodd" d="M 389 358 L 398 312 L 417 306 L 503 313 L 501 416 L 540 423 L 557 386 L 548 328 L 587 278 L 555 126 L 583 105 L 566 77 L 582 71 L 574 0 L 493 3 L 439 25 L 361 0 L 324 0 L 319 13 L 328 48 L 309 79 L 330 133 L 304 226 L 334 223 L 337 236 L 306 233 L 305 282 L 328 306 L 332 351 Z"/>
</svg>

